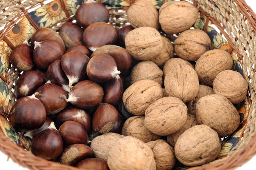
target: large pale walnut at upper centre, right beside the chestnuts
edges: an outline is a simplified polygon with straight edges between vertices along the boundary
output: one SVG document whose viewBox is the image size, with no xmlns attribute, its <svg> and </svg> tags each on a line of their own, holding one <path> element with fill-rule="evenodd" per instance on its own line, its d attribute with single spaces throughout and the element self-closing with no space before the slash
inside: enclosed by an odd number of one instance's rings
<svg viewBox="0 0 256 170">
<path fill-rule="evenodd" d="M 160 33 L 150 27 L 140 27 L 130 31 L 125 37 L 126 50 L 137 60 L 157 57 L 163 47 Z"/>
</svg>

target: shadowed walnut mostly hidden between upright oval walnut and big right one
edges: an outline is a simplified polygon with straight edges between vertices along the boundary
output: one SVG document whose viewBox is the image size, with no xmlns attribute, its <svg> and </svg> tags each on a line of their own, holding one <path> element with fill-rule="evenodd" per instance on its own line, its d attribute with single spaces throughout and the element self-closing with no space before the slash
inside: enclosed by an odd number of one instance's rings
<svg viewBox="0 0 256 170">
<path fill-rule="evenodd" d="M 195 96 L 195 99 L 189 101 L 188 103 L 188 113 L 196 116 L 195 105 L 201 97 L 214 94 L 213 89 L 207 85 L 199 85 L 198 94 Z"/>
</svg>

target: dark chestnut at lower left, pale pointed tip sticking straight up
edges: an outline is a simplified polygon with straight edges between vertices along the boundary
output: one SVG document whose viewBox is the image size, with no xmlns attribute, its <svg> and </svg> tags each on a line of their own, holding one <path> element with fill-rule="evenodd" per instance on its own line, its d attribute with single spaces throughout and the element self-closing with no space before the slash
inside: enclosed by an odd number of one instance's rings
<svg viewBox="0 0 256 170">
<path fill-rule="evenodd" d="M 47 160 L 57 158 L 62 150 L 63 142 L 54 122 L 51 122 L 46 130 L 35 135 L 32 141 L 32 153 Z"/>
</svg>

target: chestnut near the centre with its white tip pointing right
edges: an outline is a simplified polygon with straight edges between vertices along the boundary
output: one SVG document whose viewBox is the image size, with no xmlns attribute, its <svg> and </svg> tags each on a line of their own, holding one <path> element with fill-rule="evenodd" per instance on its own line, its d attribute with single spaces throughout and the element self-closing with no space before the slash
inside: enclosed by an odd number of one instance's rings
<svg viewBox="0 0 256 170">
<path fill-rule="evenodd" d="M 117 70 L 115 59 L 103 53 L 90 59 L 86 71 L 88 77 L 97 83 L 107 82 L 121 73 Z"/>
</svg>

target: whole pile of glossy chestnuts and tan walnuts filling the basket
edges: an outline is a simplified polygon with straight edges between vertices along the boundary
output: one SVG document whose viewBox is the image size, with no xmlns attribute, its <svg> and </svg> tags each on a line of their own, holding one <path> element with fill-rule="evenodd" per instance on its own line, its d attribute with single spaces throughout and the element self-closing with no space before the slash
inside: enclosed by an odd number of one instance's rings
<svg viewBox="0 0 256 170">
<path fill-rule="evenodd" d="M 171 170 L 177 161 L 215 160 L 221 138 L 239 127 L 234 105 L 248 86 L 228 52 L 210 50 L 208 35 L 189 29 L 197 16 L 184 1 L 157 11 L 139 0 L 128 9 L 131 26 L 116 30 L 107 8 L 87 0 L 76 23 L 59 34 L 40 28 L 12 50 L 23 74 L 11 125 L 36 156 L 81 169 Z M 158 29 L 177 34 L 174 45 Z"/>
</svg>

